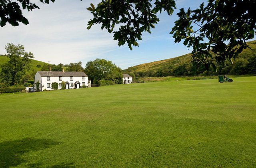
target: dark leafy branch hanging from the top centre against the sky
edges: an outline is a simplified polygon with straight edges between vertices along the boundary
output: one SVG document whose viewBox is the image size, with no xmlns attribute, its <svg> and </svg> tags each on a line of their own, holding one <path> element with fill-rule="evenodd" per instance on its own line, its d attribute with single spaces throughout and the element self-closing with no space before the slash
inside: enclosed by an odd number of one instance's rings
<svg viewBox="0 0 256 168">
<path fill-rule="evenodd" d="M 175 8 L 175 0 L 155 0 L 152 7 L 152 0 L 103 0 L 95 8 L 93 4 L 87 8 L 93 19 L 88 22 L 90 29 L 94 24 L 102 24 L 101 28 L 106 28 L 112 33 L 116 25 L 120 25 L 119 30 L 114 32 L 114 40 L 118 40 L 118 45 L 128 43 L 132 50 L 132 45 L 138 46 L 137 40 L 142 40 L 142 32 L 150 32 L 159 19 L 157 12 L 166 11 L 171 15 Z"/>
</svg>

